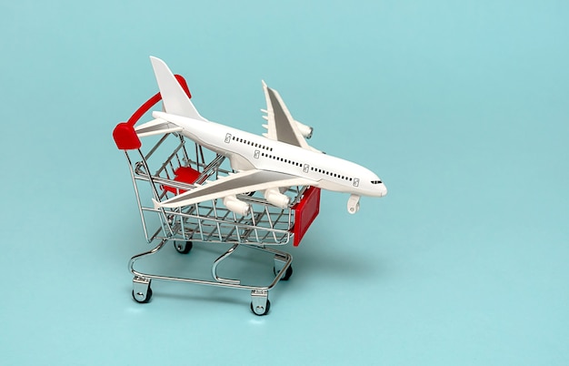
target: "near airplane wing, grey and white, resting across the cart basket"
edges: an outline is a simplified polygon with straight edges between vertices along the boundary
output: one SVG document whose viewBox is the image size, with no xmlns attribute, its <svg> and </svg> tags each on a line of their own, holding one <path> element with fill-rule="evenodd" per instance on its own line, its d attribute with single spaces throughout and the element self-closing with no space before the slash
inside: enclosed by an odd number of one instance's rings
<svg viewBox="0 0 569 366">
<path fill-rule="evenodd" d="M 286 173 L 268 170 L 245 170 L 230 174 L 215 181 L 208 181 L 202 186 L 190 189 L 174 198 L 163 202 L 155 202 L 155 206 L 164 208 L 179 208 L 193 205 L 209 199 L 225 198 L 231 195 L 265 190 L 268 188 L 281 188 L 291 186 L 314 185 L 315 181 L 299 178 Z"/>
</svg>

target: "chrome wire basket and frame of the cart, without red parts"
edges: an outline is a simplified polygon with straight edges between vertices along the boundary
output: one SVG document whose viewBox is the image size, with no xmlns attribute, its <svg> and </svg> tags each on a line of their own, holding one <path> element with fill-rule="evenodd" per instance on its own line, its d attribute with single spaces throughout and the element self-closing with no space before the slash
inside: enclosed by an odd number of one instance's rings
<svg viewBox="0 0 569 366">
<path fill-rule="evenodd" d="M 170 141 L 166 143 L 167 138 L 173 137 L 179 138 L 179 143 L 175 142 L 175 144 L 172 144 Z M 160 148 L 161 146 L 164 148 Z M 192 151 L 189 150 L 189 152 L 192 155 Z M 165 156 L 164 160 L 160 159 L 163 153 Z M 145 302 L 150 299 L 152 296 L 152 290 L 150 290 L 151 280 L 171 280 L 251 290 L 255 309 L 265 308 L 266 306 L 265 310 L 268 310 L 270 305 L 268 302 L 268 291 L 273 289 L 279 280 L 283 279 L 287 269 L 290 268 L 293 258 L 284 251 L 267 248 L 266 246 L 282 246 L 289 242 L 292 237 L 291 226 L 294 219 L 294 210 L 292 208 L 302 198 L 306 188 L 297 186 L 289 188 L 286 194 L 291 197 L 291 204 L 285 209 L 276 208 L 259 195 L 257 197 L 237 195 L 239 199 L 250 204 L 250 216 L 247 217 L 238 217 L 234 212 L 225 208 L 220 199 L 208 200 L 182 208 L 154 208 L 154 205 L 147 203 L 149 199 L 141 197 L 143 192 L 147 193 L 144 184 L 150 184 L 152 197 L 162 201 L 164 198 L 169 198 L 176 193 L 179 194 L 182 189 L 193 189 L 196 184 L 203 184 L 208 179 L 225 177 L 232 170 L 226 168 L 224 165 L 225 157 L 221 155 L 215 155 L 214 158 L 207 162 L 203 147 L 198 144 L 195 144 L 195 160 L 189 158 L 185 137 L 179 134 L 167 134 L 155 146 L 151 147 L 146 155 L 141 149 L 138 149 L 138 154 L 140 155 L 140 161 L 134 161 L 131 159 L 133 156 L 125 151 L 135 187 L 139 214 L 145 230 L 145 238 L 149 243 L 158 240 L 158 244 L 154 249 L 137 254 L 129 261 L 129 269 L 135 275 L 135 300 Z M 148 159 L 150 158 L 152 158 L 152 161 L 149 162 Z M 200 171 L 195 184 L 179 182 L 173 179 L 175 178 L 175 170 L 177 168 L 191 167 L 193 164 L 195 164 L 195 170 Z M 151 168 L 156 168 L 156 165 L 158 169 L 151 170 Z M 154 171 L 155 173 L 152 173 Z M 138 186 L 138 184 L 142 186 Z M 164 187 L 174 189 L 165 189 Z M 152 222 L 150 220 L 152 214 L 158 215 L 161 225 L 155 231 L 149 231 L 148 228 Z M 155 228 L 152 229 L 154 230 Z M 154 235 L 150 236 L 149 232 L 154 232 Z M 143 273 L 135 269 L 135 262 L 138 259 L 154 255 L 162 250 L 168 241 L 180 240 L 230 243 L 233 245 L 212 263 L 211 274 L 213 280 L 163 276 Z M 241 283 L 242 280 L 225 279 L 217 274 L 219 264 L 229 258 L 239 246 L 262 250 L 275 256 L 273 260 L 276 274 L 268 286 L 244 285 Z M 290 276 L 290 271 L 288 275 Z M 262 315 L 258 311 L 256 313 Z"/>
</svg>

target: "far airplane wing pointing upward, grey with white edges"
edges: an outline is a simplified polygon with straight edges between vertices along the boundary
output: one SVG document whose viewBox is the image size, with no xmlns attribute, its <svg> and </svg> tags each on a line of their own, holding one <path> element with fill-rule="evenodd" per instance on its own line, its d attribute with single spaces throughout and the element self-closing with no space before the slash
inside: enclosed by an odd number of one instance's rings
<svg viewBox="0 0 569 366">
<path fill-rule="evenodd" d="M 263 82 L 263 90 L 266 99 L 266 120 L 267 133 L 265 137 L 277 141 L 285 142 L 296 147 L 303 147 L 313 150 L 296 126 L 294 118 L 291 116 L 288 108 L 284 105 L 283 99 L 276 90 L 266 86 Z"/>
</svg>

